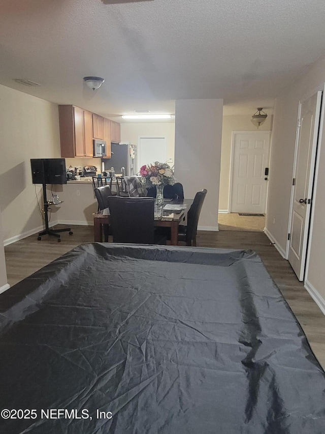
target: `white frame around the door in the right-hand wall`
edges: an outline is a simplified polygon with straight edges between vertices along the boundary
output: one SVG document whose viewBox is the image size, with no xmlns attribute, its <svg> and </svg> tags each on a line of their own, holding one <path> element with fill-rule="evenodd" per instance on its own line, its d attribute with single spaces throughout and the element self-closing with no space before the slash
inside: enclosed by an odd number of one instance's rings
<svg viewBox="0 0 325 434">
<path fill-rule="evenodd" d="M 301 106 L 304 101 L 312 97 L 315 93 L 322 91 L 322 100 L 321 100 L 321 107 L 320 107 L 320 117 L 318 119 L 318 134 L 317 134 L 317 140 L 313 146 L 312 149 L 312 157 L 310 164 L 311 166 L 314 166 L 313 171 L 313 180 L 309 180 L 309 186 L 308 186 L 308 197 L 312 198 L 315 193 L 315 186 L 316 186 L 316 180 L 317 180 L 317 173 L 318 173 L 318 165 L 319 165 L 319 152 L 320 152 L 320 142 L 321 142 L 321 132 L 322 132 L 322 125 L 323 125 L 323 117 L 324 117 L 324 98 L 325 98 L 325 84 L 322 86 L 318 86 L 318 88 L 314 89 L 313 91 L 309 92 L 308 94 L 304 95 L 299 100 L 299 106 L 298 106 L 298 114 L 297 114 L 297 129 L 296 129 L 296 142 L 295 142 L 295 154 L 294 154 L 294 167 L 293 167 L 293 173 L 291 179 L 294 179 L 295 172 L 297 168 L 297 158 L 298 158 L 298 143 L 299 143 L 299 134 L 300 134 L 300 127 L 299 127 L 299 120 L 301 117 Z M 316 120 L 315 120 L 316 122 Z M 291 194 L 290 194 L 290 207 L 289 207 L 289 220 L 288 220 L 288 234 L 291 234 L 291 225 L 292 225 L 292 212 L 294 207 L 294 186 L 291 185 Z M 313 216 L 314 216 L 314 204 L 313 200 L 311 201 L 311 207 L 308 215 L 308 234 L 311 234 L 312 226 L 313 226 Z M 306 223 L 305 223 L 306 224 Z M 288 259 L 289 257 L 289 248 L 290 248 L 290 240 L 287 239 L 286 241 L 286 249 L 285 249 L 285 259 Z M 306 245 L 306 254 L 305 254 L 305 272 L 303 281 L 306 280 L 307 276 L 307 270 L 308 270 L 308 264 L 309 264 L 309 257 L 310 257 L 310 240 L 309 236 L 307 238 L 307 245 Z"/>
</svg>

